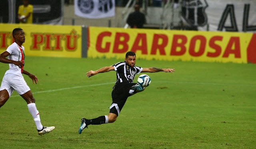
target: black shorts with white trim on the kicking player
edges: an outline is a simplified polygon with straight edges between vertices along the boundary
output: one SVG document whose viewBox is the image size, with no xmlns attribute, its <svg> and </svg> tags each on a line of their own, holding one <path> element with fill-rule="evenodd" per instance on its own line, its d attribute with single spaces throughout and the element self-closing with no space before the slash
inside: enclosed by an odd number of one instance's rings
<svg viewBox="0 0 256 149">
<path fill-rule="evenodd" d="M 129 96 L 136 94 L 136 91 L 131 90 L 130 87 L 136 83 L 122 82 L 116 83 L 112 90 L 112 104 L 110 106 L 110 113 L 117 116 L 124 107 L 124 104 Z"/>
</svg>

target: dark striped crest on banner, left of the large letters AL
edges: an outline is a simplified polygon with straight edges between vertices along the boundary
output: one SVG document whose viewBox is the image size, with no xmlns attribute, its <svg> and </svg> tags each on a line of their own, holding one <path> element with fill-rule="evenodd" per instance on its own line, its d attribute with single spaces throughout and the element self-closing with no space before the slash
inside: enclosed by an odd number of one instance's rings
<svg viewBox="0 0 256 149">
<path fill-rule="evenodd" d="M 205 12 L 207 7 L 206 0 L 183 0 L 182 18 L 192 26 L 204 26 L 208 22 Z"/>
</svg>

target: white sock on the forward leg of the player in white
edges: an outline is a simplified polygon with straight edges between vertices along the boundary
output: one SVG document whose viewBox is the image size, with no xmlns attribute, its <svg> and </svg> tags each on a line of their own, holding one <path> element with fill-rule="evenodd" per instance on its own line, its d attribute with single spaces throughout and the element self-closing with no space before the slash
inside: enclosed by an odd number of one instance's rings
<svg viewBox="0 0 256 149">
<path fill-rule="evenodd" d="M 28 104 L 28 111 L 30 112 L 30 114 L 31 114 L 32 117 L 34 118 L 34 121 L 35 121 L 35 123 L 36 123 L 37 129 L 38 129 L 38 130 L 43 129 L 43 125 L 41 124 L 39 112 L 38 112 L 38 110 L 36 109 L 36 104 L 35 104 L 35 103 Z"/>
</svg>

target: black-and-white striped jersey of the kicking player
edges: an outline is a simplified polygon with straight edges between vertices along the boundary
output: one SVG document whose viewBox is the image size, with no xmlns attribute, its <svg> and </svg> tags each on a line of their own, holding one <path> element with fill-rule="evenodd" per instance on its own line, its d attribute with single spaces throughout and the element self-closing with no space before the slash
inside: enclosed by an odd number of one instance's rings
<svg viewBox="0 0 256 149">
<path fill-rule="evenodd" d="M 116 83 L 129 82 L 132 83 L 135 74 L 139 74 L 142 71 L 141 67 L 134 66 L 129 67 L 126 62 L 119 62 L 112 65 L 116 71 Z"/>
</svg>

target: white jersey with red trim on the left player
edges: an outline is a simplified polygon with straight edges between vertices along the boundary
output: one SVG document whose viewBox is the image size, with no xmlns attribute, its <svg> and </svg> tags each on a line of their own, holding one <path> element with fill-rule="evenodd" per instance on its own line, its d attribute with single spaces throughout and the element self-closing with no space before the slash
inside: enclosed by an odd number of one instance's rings
<svg viewBox="0 0 256 149">
<path fill-rule="evenodd" d="M 22 63 L 24 63 L 25 54 L 24 54 L 23 46 L 20 47 L 16 42 L 14 42 L 6 49 L 6 51 L 10 53 L 10 55 L 8 56 L 8 59 L 13 61 L 23 61 Z M 23 66 L 22 68 L 20 68 L 14 64 L 9 64 L 9 70 L 6 71 L 5 74 L 12 73 L 18 76 L 22 76 L 22 71 L 23 71 Z"/>
</svg>

